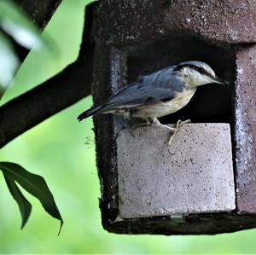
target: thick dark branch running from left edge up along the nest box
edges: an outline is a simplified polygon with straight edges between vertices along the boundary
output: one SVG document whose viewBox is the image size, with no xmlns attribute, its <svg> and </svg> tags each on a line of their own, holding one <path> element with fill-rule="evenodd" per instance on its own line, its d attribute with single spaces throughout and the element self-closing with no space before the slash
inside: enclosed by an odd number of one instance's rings
<svg viewBox="0 0 256 255">
<path fill-rule="evenodd" d="M 0 148 L 55 113 L 90 95 L 94 41 L 91 37 L 93 3 L 85 10 L 79 58 L 53 78 L 0 107 Z"/>
</svg>

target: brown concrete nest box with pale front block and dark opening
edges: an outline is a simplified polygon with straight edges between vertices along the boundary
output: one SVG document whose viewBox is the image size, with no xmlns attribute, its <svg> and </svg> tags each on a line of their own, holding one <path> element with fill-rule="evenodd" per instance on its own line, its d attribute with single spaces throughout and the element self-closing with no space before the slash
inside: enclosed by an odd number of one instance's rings
<svg viewBox="0 0 256 255">
<path fill-rule="evenodd" d="M 230 86 L 199 88 L 160 119 L 183 125 L 168 153 L 165 128 L 122 129 L 97 115 L 102 224 L 114 233 L 216 234 L 256 227 L 256 2 L 104 0 L 87 10 L 96 43 L 95 104 L 181 61 L 204 61 Z"/>
</svg>

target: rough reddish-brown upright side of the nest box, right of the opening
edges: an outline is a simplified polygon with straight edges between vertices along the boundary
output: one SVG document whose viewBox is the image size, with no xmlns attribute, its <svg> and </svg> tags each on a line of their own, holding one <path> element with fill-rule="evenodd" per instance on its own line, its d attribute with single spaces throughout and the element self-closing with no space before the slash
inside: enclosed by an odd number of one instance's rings
<svg viewBox="0 0 256 255">
<path fill-rule="evenodd" d="M 236 199 L 241 212 L 256 213 L 256 45 L 236 53 Z"/>
</svg>

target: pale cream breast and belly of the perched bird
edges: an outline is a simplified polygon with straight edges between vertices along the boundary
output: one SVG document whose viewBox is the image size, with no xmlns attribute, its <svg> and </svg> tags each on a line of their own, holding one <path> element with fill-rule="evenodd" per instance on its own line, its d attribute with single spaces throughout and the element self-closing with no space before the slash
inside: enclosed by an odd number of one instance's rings
<svg viewBox="0 0 256 255">
<path fill-rule="evenodd" d="M 137 107 L 136 111 L 132 114 L 134 117 L 143 119 L 160 118 L 171 113 L 175 113 L 181 108 L 185 107 L 192 96 L 195 94 L 195 90 L 186 90 L 181 93 L 177 93 L 170 101 L 154 101 L 144 106 Z"/>
</svg>

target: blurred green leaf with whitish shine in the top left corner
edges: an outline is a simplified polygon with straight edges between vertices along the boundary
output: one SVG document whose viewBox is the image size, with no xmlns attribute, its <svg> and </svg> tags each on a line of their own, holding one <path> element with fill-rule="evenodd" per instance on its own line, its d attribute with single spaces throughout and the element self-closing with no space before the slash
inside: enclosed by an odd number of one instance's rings
<svg viewBox="0 0 256 255">
<path fill-rule="evenodd" d="M 0 26 L 26 49 L 42 49 L 50 46 L 47 38 L 41 36 L 38 27 L 11 0 L 0 1 Z"/>
</svg>

